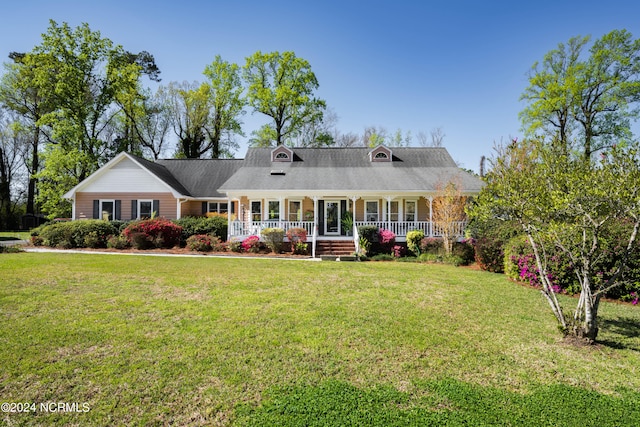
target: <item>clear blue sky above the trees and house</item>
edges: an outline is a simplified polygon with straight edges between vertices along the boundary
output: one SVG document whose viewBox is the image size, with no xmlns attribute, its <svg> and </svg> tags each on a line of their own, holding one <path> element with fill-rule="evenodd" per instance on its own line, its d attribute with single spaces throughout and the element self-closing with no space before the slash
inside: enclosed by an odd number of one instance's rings
<svg viewBox="0 0 640 427">
<path fill-rule="evenodd" d="M 521 135 L 519 98 L 546 52 L 613 29 L 640 37 L 637 0 L 22 0 L 0 10 L 2 61 L 39 44 L 49 19 L 87 22 L 129 51 L 151 52 L 162 83 L 203 81 L 218 54 L 243 65 L 258 50 L 292 50 L 311 64 L 342 132 L 441 127 L 453 158 L 476 171 L 494 142 Z M 245 132 L 263 121 L 247 114 Z"/>
</svg>

